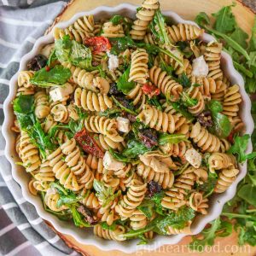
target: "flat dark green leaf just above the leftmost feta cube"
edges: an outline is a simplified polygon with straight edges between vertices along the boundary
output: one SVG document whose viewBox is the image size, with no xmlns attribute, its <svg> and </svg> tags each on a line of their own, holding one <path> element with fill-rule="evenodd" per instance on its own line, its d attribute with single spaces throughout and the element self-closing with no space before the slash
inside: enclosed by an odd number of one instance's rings
<svg viewBox="0 0 256 256">
<path fill-rule="evenodd" d="M 39 87 L 61 86 L 71 77 L 71 71 L 67 67 L 56 65 L 49 71 L 45 67 L 38 70 L 30 82 Z"/>
</svg>

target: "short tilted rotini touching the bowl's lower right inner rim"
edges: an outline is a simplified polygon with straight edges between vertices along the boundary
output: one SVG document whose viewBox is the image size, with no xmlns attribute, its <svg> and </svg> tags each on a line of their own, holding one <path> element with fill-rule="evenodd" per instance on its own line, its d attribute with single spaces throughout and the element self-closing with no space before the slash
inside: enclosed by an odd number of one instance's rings
<svg viewBox="0 0 256 256">
<path fill-rule="evenodd" d="M 218 173 L 218 180 L 214 188 L 215 193 L 224 193 L 229 189 L 230 185 L 236 180 L 239 169 L 234 166 L 230 166 L 227 169 L 221 170 Z"/>
</svg>

